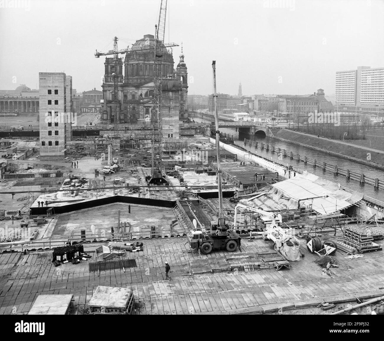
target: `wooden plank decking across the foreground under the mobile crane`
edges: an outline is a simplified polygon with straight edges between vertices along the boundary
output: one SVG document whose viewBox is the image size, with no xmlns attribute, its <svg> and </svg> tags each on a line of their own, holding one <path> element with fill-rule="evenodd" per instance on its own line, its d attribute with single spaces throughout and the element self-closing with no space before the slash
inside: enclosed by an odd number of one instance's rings
<svg viewBox="0 0 384 341">
<path fill-rule="evenodd" d="M 38 294 L 67 294 L 75 297 L 77 314 L 82 314 L 98 285 L 129 287 L 136 299 L 136 314 L 183 315 L 194 313 L 235 313 L 270 311 L 277 306 L 292 306 L 314 298 L 359 296 L 377 291 L 384 283 L 382 251 L 364 254 L 364 258 L 346 260 L 344 253 L 334 258 L 339 268 L 331 269 L 333 278 L 323 275 L 314 263 L 317 255 L 305 254 L 300 262 L 291 262 L 291 270 L 275 268 L 253 272 L 227 271 L 227 252 L 203 255 L 218 271 L 189 276 L 189 263 L 198 256 L 190 252 L 185 238 L 144 241 L 144 252 L 128 253 L 137 267 L 89 272 L 88 262 L 63 264 L 55 268 L 51 252 L 3 253 L 0 255 L 0 315 L 26 314 Z M 382 243 L 382 242 L 381 242 Z M 91 244 L 84 245 L 93 251 Z M 243 240 L 243 253 L 272 250 L 271 242 Z M 93 252 L 90 253 L 95 257 Z M 241 255 L 240 252 L 230 254 Z M 228 257 L 230 258 L 230 257 Z M 164 262 L 168 261 L 172 280 L 165 280 Z M 91 261 L 94 261 L 91 260 Z M 269 310 L 268 310 L 269 309 Z"/>
</svg>

